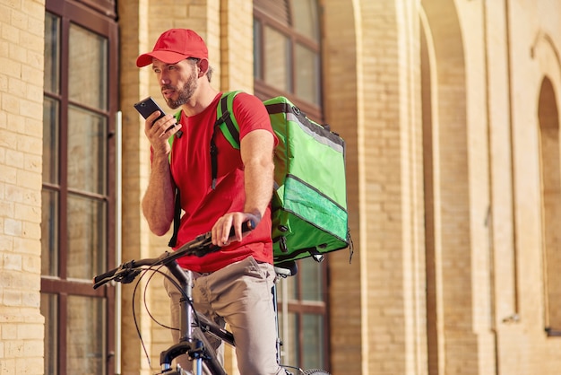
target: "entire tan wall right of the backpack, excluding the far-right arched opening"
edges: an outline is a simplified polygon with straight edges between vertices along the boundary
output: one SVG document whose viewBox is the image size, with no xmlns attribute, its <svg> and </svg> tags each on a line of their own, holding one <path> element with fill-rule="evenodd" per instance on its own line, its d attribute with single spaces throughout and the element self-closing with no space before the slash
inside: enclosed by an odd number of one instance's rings
<svg viewBox="0 0 561 375">
<path fill-rule="evenodd" d="M 555 373 L 537 103 L 544 76 L 561 87 L 557 4 L 323 4 L 324 107 L 348 144 L 356 247 L 353 265 L 329 257 L 332 372 Z"/>
</svg>

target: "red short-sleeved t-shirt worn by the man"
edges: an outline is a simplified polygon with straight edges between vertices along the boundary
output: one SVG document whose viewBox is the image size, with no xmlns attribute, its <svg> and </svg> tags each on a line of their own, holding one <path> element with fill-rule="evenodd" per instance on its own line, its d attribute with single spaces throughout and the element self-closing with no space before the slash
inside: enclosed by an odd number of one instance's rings
<svg viewBox="0 0 561 375">
<path fill-rule="evenodd" d="M 181 207 L 185 214 L 177 234 L 178 249 L 199 234 L 211 231 L 223 214 L 243 212 L 246 199 L 244 189 L 244 165 L 239 150 L 235 149 L 216 130 L 218 148 L 217 184 L 211 188 L 211 136 L 216 121 L 216 109 L 221 93 L 203 112 L 186 117 L 182 113 L 183 135 L 173 143 L 171 175 L 181 194 Z M 234 116 L 239 126 L 239 139 L 256 129 L 266 129 L 273 136 L 269 115 L 263 102 L 244 92 L 237 94 L 233 104 Z M 276 142 L 276 139 L 275 139 Z M 181 257 L 180 266 L 195 272 L 213 272 L 233 262 L 253 256 L 257 261 L 272 263 L 271 208 L 268 207 L 262 221 L 241 242 L 204 257 Z"/>
</svg>

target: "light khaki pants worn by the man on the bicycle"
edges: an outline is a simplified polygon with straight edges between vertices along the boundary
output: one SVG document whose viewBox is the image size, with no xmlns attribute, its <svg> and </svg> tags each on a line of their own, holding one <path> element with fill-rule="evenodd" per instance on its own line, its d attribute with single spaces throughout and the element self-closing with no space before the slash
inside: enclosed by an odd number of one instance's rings
<svg viewBox="0 0 561 375">
<path fill-rule="evenodd" d="M 272 306 L 272 284 L 275 274 L 272 265 L 257 263 L 254 257 L 226 266 L 211 274 L 194 273 L 194 309 L 221 327 L 225 323 L 236 339 L 237 367 L 244 375 L 284 374 L 276 361 L 275 315 Z M 181 292 L 165 278 L 171 306 L 171 325 L 180 327 Z M 174 343 L 179 331 L 172 330 Z M 219 340 L 210 338 L 217 346 Z M 223 356 L 223 344 L 217 353 Z M 182 355 L 177 359 L 181 367 L 191 370 L 191 362 Z M 223 359 L 220 358 L 222 362 Z"/>
</svg>

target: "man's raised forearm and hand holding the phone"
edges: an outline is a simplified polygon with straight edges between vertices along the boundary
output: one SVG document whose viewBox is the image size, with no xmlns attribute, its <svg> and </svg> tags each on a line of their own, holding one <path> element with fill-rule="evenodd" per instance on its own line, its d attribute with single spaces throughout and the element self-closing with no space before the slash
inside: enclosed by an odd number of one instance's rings
<svg viewBox="0 0 561 375">
<path fill-rule="evenodd" d="M 175 134 L 181 126 L 174 126 L 166 131 L 176 122 L 171 115 L 161 118 L 152 126 L 152 121 L 159 114 L 160 112 L 154 112 L 144 124 L 144 133 L 152 147 L 152 160 L 148 188 L 142 198 L 142 213 L 150 230 L 158 236 L 163 236 L 173 222 L 175 208 L 175 188 L 168 160 L 171 152 L 168 137 Z"/>
</svg>

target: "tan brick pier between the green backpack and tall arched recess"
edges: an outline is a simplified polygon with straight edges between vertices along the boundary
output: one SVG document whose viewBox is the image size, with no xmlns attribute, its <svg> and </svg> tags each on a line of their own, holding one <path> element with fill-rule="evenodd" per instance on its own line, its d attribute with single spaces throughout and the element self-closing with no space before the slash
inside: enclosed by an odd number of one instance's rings
<svg viewBox="0 0 561 375">
<path fill-rule="evenodd" d="M 329 258 L 333 373 L 426 363 L 418 19 L 404 3 L 324 2 L 324 109 L 347 141 L 356 247 L 351 265 Z"/>
</svg>

